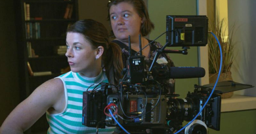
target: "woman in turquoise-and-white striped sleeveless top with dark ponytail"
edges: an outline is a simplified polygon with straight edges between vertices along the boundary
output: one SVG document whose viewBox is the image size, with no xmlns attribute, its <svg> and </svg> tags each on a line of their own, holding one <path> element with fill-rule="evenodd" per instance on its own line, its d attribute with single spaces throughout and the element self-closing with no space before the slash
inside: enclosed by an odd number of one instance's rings
<svg viewBox="0 0 256 134">
<path fill-rule="evenodd" d="M 9 114 L 0 133 L 24 133 L 45 112 L 47 133 L 96 133 L 82 125 L 83 92 L 100 82 L 117 85 L 123 63 L 121 50 L 109 41 L 104 25 L 80 20 L 68 28 L 66 57 L 71 71 L 41 84 Z M 114 127 L 99 129 L 113 133 Z"/>
</svg>

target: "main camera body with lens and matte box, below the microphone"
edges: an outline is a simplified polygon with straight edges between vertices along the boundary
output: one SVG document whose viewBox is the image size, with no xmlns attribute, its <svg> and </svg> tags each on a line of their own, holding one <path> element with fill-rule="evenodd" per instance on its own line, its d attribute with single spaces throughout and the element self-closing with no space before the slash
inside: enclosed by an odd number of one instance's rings
<svg viewBox="0 0 256 134">
<path fill-rule="evenodd" d="M 194 92 L 188 92 L 185 98 L 175 98 L 172 95 L 149 92 L 145 95 L 146 86 L 122 85 L 123 93 L 112 93 L 108 84 L 98 92 L 84 92 L 83 125 L 87 127 L 105 128 L 117 126 L 116 121 L 125 129 L 163 129 L 173 133 L 181 129 L 182 122 L 192 120 L 202 109 L 209 97 L 210 90 L 195 86 Z M 108 87 L 108 88 L 106 88 Z M 127 88 L 130 88 L 129 90 Z M 148 88 L 148 87 L 147 87 Z M 139 90 L 138 90 L 139 89 Z M 161 90 L 160 90 L 161 91 Z M 87 98 L 87 100 L 85 100 Z M 117 114 L 107 116 L 104 112 L 109 103 L 116 105 Z M 115 111 L 113 111 L 115 112 Z M 215 130 L 220 129 L 221 96 L 213 94 L 205 109 L 197 120 Z M 104 123 L 103 123 L 104 122 Z M 200 124 L 202 127 L 203 124 Z M 202 129 L 207 129 L 202 127 Z M 172 130 L 172 131 L 171 131 Z M 202 130 L 200 130 L 202 131 Z"/>
</svg>

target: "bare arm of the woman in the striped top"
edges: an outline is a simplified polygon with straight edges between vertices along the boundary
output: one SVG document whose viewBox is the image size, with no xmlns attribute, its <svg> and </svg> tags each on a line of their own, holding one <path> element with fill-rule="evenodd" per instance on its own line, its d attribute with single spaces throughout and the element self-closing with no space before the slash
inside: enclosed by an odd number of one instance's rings
<svg viewBox="0 0 256 134">
<path fill-rule="evenodd" d="M 59 103 L 64 95 L 62 80 L 54 78 L 41 84 L 22 103 L 20 103 L 3 122 L 0 133 L 23 133 L 45 112 Z"/>
</svg>

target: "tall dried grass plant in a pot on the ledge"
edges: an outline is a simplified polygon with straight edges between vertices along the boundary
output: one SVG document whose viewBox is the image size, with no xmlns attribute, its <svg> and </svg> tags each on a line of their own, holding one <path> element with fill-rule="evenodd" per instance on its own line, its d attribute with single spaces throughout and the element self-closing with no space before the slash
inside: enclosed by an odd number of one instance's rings
<svg viewBox="0 0 256 134">
<path fill-rule="evenodd" d="M 219 20 L 219 19 L 217 19 Z M 223 66 L 221 68 L 221 75 L 219 81 L 232 80 L 231 67 L 234 60 L 234 41 L 232 41 L 235 25 L 232 25 L 226 35 L 227 27 L 224 27 L 225 19 L 220 21 L 213 21 L 209 23 L 209 31 L 213 32 L 219 39 L 223 53 Z M 221 65 L 221 53 L 219 51 L 219 44 L 213 36 L 208 36 L 208 58 L 209 58 L 209 82 L 214 83 L 219 74 L 219 67 Z M 232 97 L 233 92 L 223 93 L 222 98 Z"/>
</svg>

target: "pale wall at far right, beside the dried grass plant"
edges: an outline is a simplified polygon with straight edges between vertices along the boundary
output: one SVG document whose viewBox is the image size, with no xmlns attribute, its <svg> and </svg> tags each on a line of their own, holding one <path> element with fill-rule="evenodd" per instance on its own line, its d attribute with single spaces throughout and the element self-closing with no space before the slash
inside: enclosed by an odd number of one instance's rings
<svg viewBox="0 0 256 134">
<path fill-rule="evenodd" d="M 232 78 L 235 82 L 256 86 L 256 1 L 228 0 L 228 23 L 236 23 L 234 33 L 236 53 L 232 65 Z M 256 88 L 236 92 L 256 96 Z"/>
</svg>

